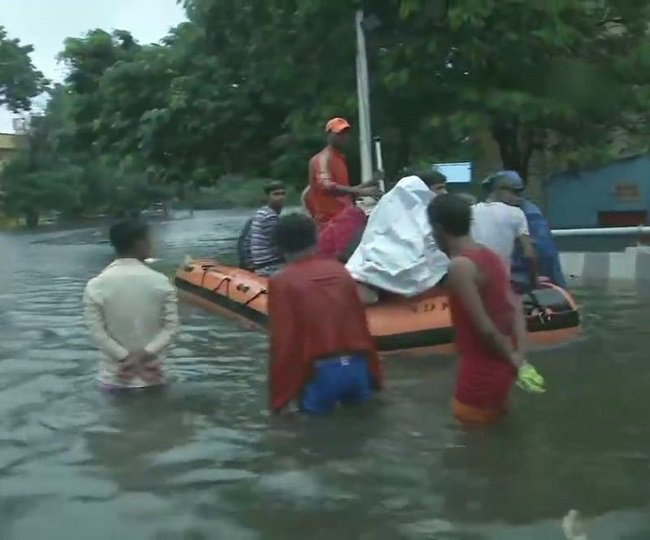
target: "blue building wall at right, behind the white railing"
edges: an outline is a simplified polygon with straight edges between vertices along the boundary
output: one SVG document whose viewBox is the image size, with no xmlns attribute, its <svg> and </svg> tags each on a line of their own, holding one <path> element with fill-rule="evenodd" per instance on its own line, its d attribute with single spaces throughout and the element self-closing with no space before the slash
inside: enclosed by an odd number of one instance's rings
<svg viewBox="0 0 650 540">
<path fill-rule="evenodd" d="M 552 227 L 602 226 L 605 223 L 601 220 L 607 219 L 604 212 L 630 215 L 648 211 L 650 157 L 635 156 L 598 169 L 554 174 L 545 188 L 547 217 Z"/>
</svg>

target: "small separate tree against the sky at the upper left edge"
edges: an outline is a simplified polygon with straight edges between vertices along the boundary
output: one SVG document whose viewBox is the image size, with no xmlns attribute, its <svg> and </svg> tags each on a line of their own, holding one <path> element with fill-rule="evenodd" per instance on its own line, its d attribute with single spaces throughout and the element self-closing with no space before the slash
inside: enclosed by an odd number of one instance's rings
<svg viewBox="0 0 650 540">
<path fill-rule="evenodd" d="M 31 45 L 10 39 L 0 26 L 0 106 L 12 112 L 29 110 L 31 99 L 45 88 L 43 74 L 34 68 L 29 57 Z"/>
</svg>

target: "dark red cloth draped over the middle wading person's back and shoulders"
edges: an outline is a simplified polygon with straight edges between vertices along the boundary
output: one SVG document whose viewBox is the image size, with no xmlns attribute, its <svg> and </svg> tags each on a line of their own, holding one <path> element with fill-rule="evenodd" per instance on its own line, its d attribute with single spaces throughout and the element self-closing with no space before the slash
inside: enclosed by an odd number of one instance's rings
<svg viewBox="0 0 650 540">
<path fill-rule="evenodd" d="M 316 360 L 363 353 L 376 387 L 382 371 L 356 283 L 338 261 L 321 256 L 289 263 L 269 280 L 271 409 L 299 397 Z"/>
</svg>

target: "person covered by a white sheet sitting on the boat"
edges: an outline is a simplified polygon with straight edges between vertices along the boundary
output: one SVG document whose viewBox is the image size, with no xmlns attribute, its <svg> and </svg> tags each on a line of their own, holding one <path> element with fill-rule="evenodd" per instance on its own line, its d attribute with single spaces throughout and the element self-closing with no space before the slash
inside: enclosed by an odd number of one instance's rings
<svg viewBox="0 0 650 540">
<path fill-rule="evenodd" d="M 438 171 L 406 176 L 370 214 L 361 242 L 346 264 L 361 284 L 365 303 L 377 301 L 377 289 L 417 296 L 447 273 L 449 259 L 438 249 L 426 213 L 436 194 L 446 192 L 446 180 Z"/>
</svg>

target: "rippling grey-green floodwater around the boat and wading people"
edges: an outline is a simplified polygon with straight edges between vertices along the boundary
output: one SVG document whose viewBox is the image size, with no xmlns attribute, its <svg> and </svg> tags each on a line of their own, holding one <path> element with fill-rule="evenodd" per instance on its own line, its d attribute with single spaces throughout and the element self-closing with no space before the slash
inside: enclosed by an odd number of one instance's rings
<svg viewBox="0 0 650 540">
<path fill-rule="evenodd" d="M 227 256 L 244 218 L 157 224 L 162 269 Z M 104 234 L 0 235 L 0 539 L 563 540 L 570 509 L 588 540 L 650 538 L 648 291 L 576 286 L 584 336 L 532 355 L 547 393 L 515 389 L 493 429 L 450 420 L 443 356 L 387 361 L 367 406 L 273 418 L 265 336 L 191 306 L 167 391 L 97 391 L 80 298 Z"/>
</svg>

